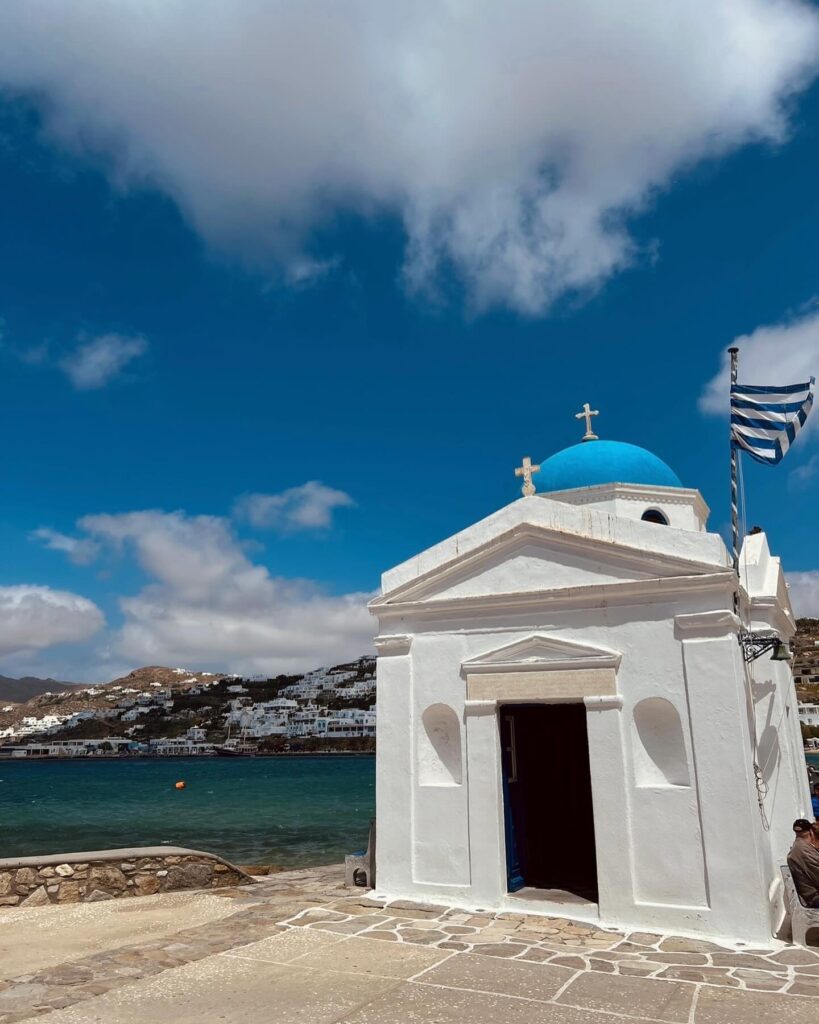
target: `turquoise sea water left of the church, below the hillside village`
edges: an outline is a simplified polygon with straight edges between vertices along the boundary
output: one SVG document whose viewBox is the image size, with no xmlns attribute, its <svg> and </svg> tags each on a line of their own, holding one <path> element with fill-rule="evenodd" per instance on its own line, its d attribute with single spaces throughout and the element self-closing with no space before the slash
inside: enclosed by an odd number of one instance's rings
<svg viewBox="0 0 819 1024">
<path fill-rule="evenodd" d="M 367 845 L 375 803 L 372 757 L 2 762 L 0 857 L 164 844 L 327 864 Z"/>
</svg>

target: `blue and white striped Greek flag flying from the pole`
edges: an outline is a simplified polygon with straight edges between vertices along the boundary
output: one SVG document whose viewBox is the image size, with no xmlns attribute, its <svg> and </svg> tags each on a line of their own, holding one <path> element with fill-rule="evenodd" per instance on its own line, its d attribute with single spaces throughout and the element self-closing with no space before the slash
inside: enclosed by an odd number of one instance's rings
<svg viewBox="0 0 819 1024">
<path fill-rule="evenodd" d="M 787 387 L 731 385 L 731 438 L 757 462 L 775 465 L 793 443 L 813 406 L 815 378 Z"/>
</svg>

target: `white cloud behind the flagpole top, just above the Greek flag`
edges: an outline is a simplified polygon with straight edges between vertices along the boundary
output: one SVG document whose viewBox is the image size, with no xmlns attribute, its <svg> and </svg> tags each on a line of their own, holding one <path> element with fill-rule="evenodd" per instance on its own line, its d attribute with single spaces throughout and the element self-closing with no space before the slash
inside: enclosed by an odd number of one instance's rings
<svg viewBox="0 0 819 1024">
<path fill-rule="evenodd" d="M 739 380 L 744 384 L 799 384 L 819 375 L 819 311 L 784 324 L 759 327 L 735 338 L 739 348 Z M 720 372 L 708 381 L 699 398 L 703 413 L 727 416 L 731 379 L 730 356 L 723 352 Z M 816 413 L 806 428 L 816 425 Z"/>
</svg>

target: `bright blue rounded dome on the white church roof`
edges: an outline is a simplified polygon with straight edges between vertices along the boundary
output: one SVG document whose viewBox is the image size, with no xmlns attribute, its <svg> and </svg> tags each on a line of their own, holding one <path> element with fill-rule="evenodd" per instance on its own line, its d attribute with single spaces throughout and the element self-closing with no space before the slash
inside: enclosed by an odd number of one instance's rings
<svg viewBox="0 0 819 1024">
<path fill-rule="evenodd" d="M 583 441 L 558 452 L 532 473 L 540 494 L 593 487 L 598 483 L 644 483 L 682 487 L 680 477 L 645 449 L 624 441 Z"/>
</svg>

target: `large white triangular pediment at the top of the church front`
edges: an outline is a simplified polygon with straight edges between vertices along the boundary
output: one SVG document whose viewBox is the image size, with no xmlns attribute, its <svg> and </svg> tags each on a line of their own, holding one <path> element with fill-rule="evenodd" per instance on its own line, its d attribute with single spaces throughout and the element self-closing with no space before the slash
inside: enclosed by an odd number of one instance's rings
<svg viewBox="0 0 819 1024">
<path fill-rule="evenodd" d="M 685 558 L 527 524 L 396 588 L 374 606 L 559 591 L 686 577 L 703 569 Z"/>
</svg>

